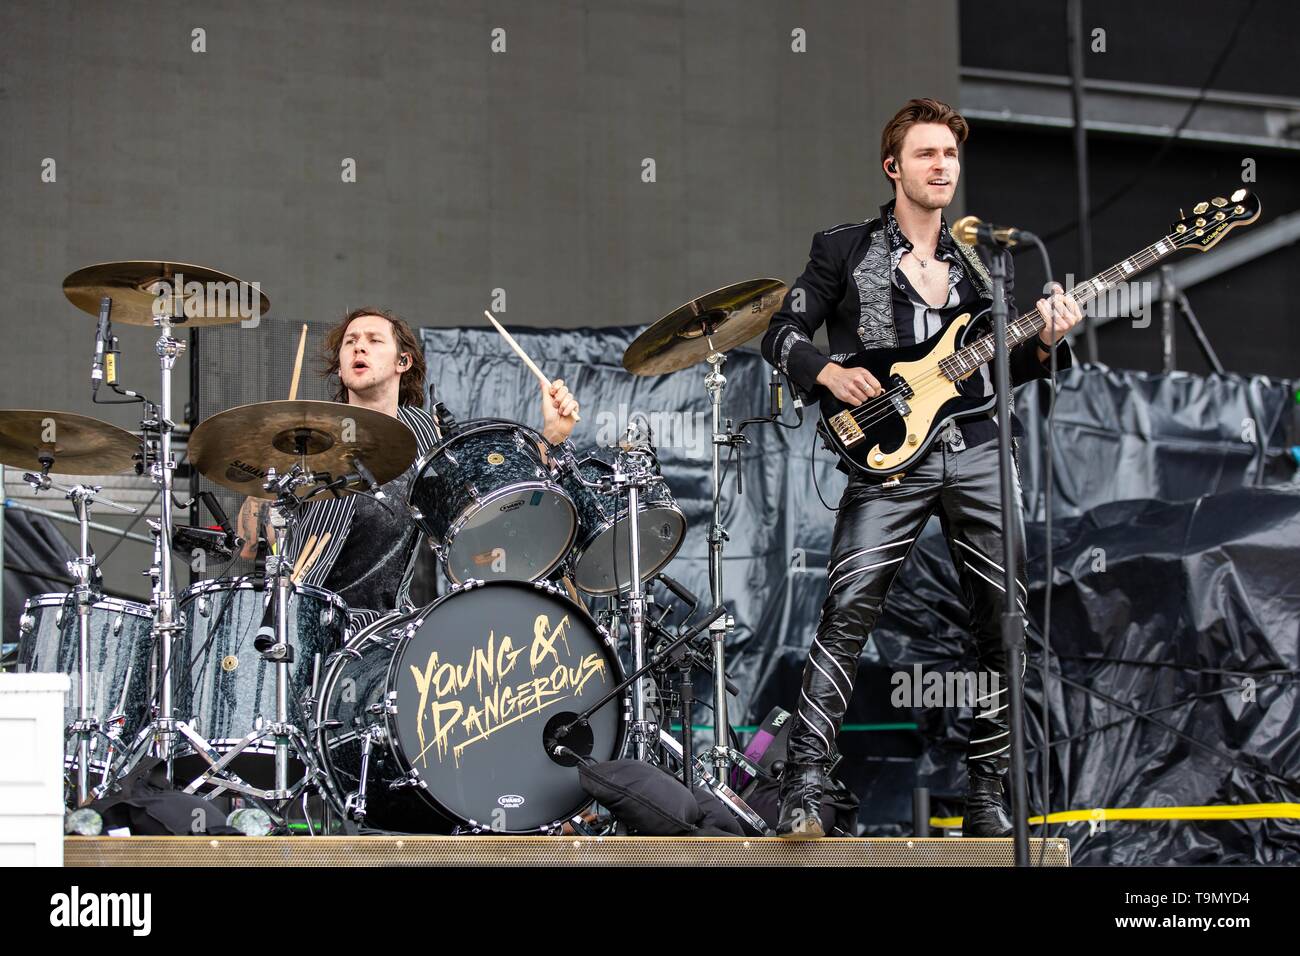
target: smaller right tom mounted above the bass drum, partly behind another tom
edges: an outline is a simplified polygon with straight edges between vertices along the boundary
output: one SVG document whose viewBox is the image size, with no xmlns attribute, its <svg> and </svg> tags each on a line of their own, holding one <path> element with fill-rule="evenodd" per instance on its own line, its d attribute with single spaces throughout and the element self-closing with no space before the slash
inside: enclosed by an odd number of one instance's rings
<svg viewBox="0 0 1300 956">
<path fill-rule="evenodd" d="M 659 473 L 658 466 L 654 471 Z M 590 488 L 576 475 L 593 483 L 607 481 L 614 466 L 588 455 L 578 462 L 569 458 L 562 472 L 560 485 L 573 498 L 578 516 L 577 544 L 568 559 L 573 583 L 588 594 L 627 589 L 632 585 L 627 496 Z M 666 481 L 655 481 L 637 496 L 637 531 L 641 580 L 647 581 L 668 566 L 686 537 L 686 516 Z"/>
</svg>

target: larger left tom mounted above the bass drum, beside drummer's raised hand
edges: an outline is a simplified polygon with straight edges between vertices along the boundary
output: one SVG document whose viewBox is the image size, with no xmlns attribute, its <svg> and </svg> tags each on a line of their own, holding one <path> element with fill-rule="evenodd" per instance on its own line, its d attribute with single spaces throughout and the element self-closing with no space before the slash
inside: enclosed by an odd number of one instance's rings
<svg viewBox="0 0 1300 956">
<path fill-rule="evenodd" d="M 416 463 L 408 503 L 452 583 L 536 581 L 564 559 L 577 512 L 538 442 L 524 425 L 478 419 Z"/>
</svg>

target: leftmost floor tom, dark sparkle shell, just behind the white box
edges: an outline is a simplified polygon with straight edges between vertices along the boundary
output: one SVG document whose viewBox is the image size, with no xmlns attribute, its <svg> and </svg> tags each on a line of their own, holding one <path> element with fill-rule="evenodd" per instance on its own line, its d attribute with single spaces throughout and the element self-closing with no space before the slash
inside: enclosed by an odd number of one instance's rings
<svg viewBox="0 0 1300 956">
<path fill-rule="evenodd" d="M 88 691 L 90 714 L 103 730 L 130 747 L 150 717 L 152 687 L 151 650 L 153 611 L 148 606 L 104 597 L 90 607 Z M 79 648 L 75 594 L 36 594 L 22 606 L 18 622 L 18 670 L 66 674 L 72 692 L 64 698 L 64 724 L 78 717 L 81 700 Z M 92 737 L 91 766 L 108 761 L 108 741 Z M 72 763 L 68 757 L 68 763 Z"/>
</svg>

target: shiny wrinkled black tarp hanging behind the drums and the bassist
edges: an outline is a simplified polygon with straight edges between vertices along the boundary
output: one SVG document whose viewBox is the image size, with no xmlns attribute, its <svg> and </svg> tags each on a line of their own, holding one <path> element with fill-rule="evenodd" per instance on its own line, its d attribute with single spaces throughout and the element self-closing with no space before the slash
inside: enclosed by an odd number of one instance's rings
<svg viewBox="0 0 1300 956">
<path fill-rule="evenodd" d="M 615 444 L 634 412 L 651 416 L 664 475 L 688 520 L 686 542 L 670 572 L 707 596 L 706 369 L 629 375 L 621 355 L 640 332 L 634 328 L 512 332 L 581 401 L 582 424 L 575 433 L 580 450 Z M 430 381 L 458 419 L 499 416 L 537 427 L 538 385 L 491 329 L 425 329 L 422 336 Z M 766 414 L 768 368 L 762 358 L 732 352 L 724 371 L 725 414 L 736 421 Z M 1296 441 L 1294 390 L 1294 382 L 1268 378 L 1101 367 L 1062 376 L 1050 637 L 1053 671 L 1062 667 L 1074 683 L 1053 691 L 1052 809 L 1296 799 L 1300 737 L 1291 717 L 1295 701 L 1287 695 L 1294 695 L 1300 627 L 1300 597 L 1291 583 L 1300 580 L 1300 493 L 1277 485 L 1294 475 L 1286 453 Z M 1039 514 L 1044 498 L 1036 459 L 1048 394 L 1046 385 L 1037 384 L 1017 394 L 1030 433 L 1022 449 L 1023 490 Z M 753 444 L 744 451 L 744 494 L 736 493 L 733 477 L 725 486 L 724 584 L 737 623 L 728 665 L 741 688 L 731 718 L 738 724 L 758 722 L 772 705 L 793 705 L 826 591 L 835 519 L 812 486 L 812 412 L 806 410 L 798 431 L 748 429 Z M 1243 427 L 1256 418 L 1262 428 Z M 1277 486 L 1234 490 L 1254 483 L 1257 446 L 1245 438 L 1258 433 L 1274 449 L 1264 481 Z M 822 496 L 837 503 L 844 476 L 828 453 L 818 450 L 814 460 Z M 1193 501 L 1204 494 L 1213 497 Z M 1121 498 L 1128 501 L 1114 503 Z M 1031 522 L 1027 529 L 1031 618 L 1041 623 L 1043 525 Z M 937 810 L 959 813 L 961 741 L 970 711 L 896 709 L 889 701 L 892 675 L 914 663 L 941 671 L 974 669 L 966 610 L 937 531 L 933 522 L 904 564 L 867 643 L 859 689 L 845 719 L 848 727 L 862 728 L 846 731 L 841 745 L 845 778 L 863 799 L 861 819 L 870 832 L 907 832 L 911 788 L 918 784 L 932 788 Z M 1040 640 L 1037 624 L 1031 626 L 1034 748 L 1043 739 Z M 1123 662 L 1128 659 L 1139 663 Z M 1247 678 L 1256 682 L 1249 705 L 1236 702 Z M 1157 714 L 1175 730 L 1124 709 L 1175 704 Z M 710 723 L 703 711 L 697 719 Z M 1067 735 L 1072 737 L 1066 741 Z M 1031 783 L 1037 780 L 1037 749 L 1034 754 Z M 1296 829 L 1273 822 L 1112 822 L 1092 838 L 1088 825 L 1065 832 L 1075 842 L 1079 862 L 1296 855 Z"/>
</svg>

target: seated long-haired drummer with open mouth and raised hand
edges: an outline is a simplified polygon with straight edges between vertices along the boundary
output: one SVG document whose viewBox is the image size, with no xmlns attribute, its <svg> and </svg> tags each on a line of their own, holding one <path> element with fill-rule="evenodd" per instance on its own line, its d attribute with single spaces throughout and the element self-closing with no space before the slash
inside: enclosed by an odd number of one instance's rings
<svg viewBox="0 0 1300 956">
<path fill-rule="evenodd" d="M 334 401 L 400 419 L 415 433 L 417 459 L 437 445 L 433 419 L 424 411 L 424 349 L 402 319 L 382 308 L 358 308 L 325 338 L 326 376 L 335 376 Z M 577 399 L 556 378 L 542 390 L 542 437 L 559 444 L 573 432 Z M 294 563 L 304 542 L 329 533 L 325 550 L 303 576 L 304 584 L 333 591 L 352 609 L 354 627 L 410 604 L 420 532 L 407 511 L 415 462 L 382 486 L 385 499 L 344 494 L 307 502 L 286 546 Z M 256 554 L 259 506 L 250 498 L 239 511 L 242 557 Z"/>
</svg>

